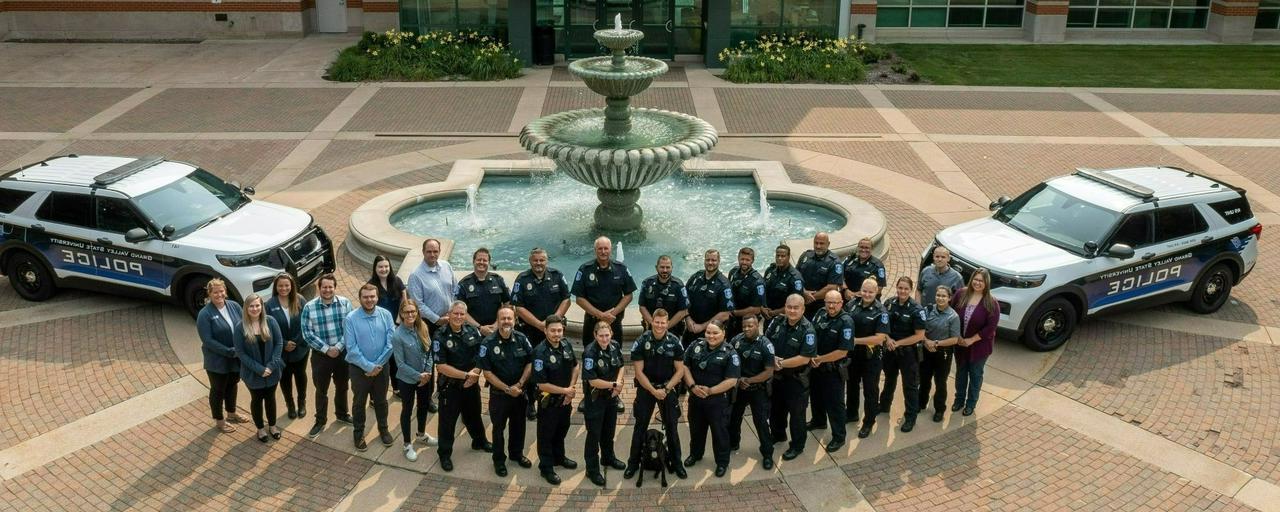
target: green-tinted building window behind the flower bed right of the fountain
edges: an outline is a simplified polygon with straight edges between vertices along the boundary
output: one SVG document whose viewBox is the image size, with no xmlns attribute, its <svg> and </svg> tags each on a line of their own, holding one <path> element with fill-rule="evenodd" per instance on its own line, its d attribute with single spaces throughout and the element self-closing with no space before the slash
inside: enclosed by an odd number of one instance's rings
<svg viewBox="0 0 1280 512">
<path fill-rule="evenodd" d="M 765 33 L 805 32 L 836 37 L 840 0 L 730 0 L 730 44 Z"/>
</svg>

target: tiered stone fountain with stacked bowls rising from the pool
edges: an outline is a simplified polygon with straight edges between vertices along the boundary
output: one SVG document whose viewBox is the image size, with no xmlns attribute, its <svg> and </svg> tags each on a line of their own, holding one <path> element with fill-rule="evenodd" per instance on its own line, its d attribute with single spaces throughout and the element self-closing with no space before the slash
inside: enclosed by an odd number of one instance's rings
<svg viewBox="0 0 1280 512">
<path fill-rule="evenodd" d="M 538 118 L 520 132 L 526 150 L 596 188 L 595 227 L 609 232 L 640 228 L 640 188 L 667 178 L 717 142 L 716 128 L 699 118 L 631 108 L 631 96 L 667 73 L 662 60 L 626 55 L 641 38 L 644 32 L 622 28 L 621 15 L 612 29 L 596 31 L 595 40 L 612 55 L 575 60 L 568 70 L 604 96 L 605 106 Z"/>
</svg>

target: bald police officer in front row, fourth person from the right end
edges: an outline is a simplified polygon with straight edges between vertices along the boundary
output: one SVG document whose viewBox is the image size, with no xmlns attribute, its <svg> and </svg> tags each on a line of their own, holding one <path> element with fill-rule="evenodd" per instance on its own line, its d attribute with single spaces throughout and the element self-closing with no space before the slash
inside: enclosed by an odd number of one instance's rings
<svg viewBox="0 0 1280 512">
<path fill-rule="evenodd" d="M 876 279 L 863 280 L 858 292 L 856 301 L 846 306 L 849 316 L 854 319 L 854 353 L 849 358 L 849 380 L 854 387 L 846 397 L 846 410 L 850 416 L 858 412 L 858 392 L 861 388 L 865 403 L 863 428 L 858 430 L 858 436 L 867 438 L 872 435 L 876 413 L 879 410 L 879 374 L 884 352 L 881 344 L 888 339 L 888 312 L 876 300 L 876 294 L 879 293 Z"/>
</svg>

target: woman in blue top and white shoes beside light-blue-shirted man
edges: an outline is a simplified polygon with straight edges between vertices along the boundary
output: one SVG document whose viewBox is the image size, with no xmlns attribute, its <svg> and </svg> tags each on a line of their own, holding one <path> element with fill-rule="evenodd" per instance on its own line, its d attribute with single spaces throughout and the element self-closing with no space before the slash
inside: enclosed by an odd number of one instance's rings
<svg viewBox="0 0 1280 512">
<path fill-rule="evenodd" d="M 413 438 L 410 428 L 410 419 L 413 417 L 413 408 L 417 408 L 417 440 L 429 447 L 436 444 L 435 438 L 426 433 L 426 401 L 431 398 L 431 374 L 434 362 L 431 361 L 431 337 L 426 332 L 426 323 L 417 314 L 417 302 L 412 298 L 404 300 L 399 310 L 399 326 L 392 333 L 392 355 L 399 360 L 396 369 L 394 380 L 398 381 L 401 402 L 401 435 L 404 439 L 404 458 L 410 462 L 417 461 L 417 451 L 413 449 Z"/>
</svg>

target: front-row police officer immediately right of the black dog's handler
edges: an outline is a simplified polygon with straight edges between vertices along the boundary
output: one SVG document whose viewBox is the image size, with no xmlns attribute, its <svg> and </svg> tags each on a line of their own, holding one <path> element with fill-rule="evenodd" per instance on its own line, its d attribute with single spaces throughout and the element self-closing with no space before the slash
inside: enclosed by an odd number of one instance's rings
<svg viewBox="0 0 1280 512">
<path fill-rule="evenodd" d="M 685 351 L 685 385 L 689 387 L 689 458 L 692 466 L 707 451 L 707 430 L 712 431 L 712 452 L 716 454 L 716 477 L 728 471 L 728 394 L 737 387 L 742 362 L 724 343 L 724 323 L 712 320 L 705 337 Z"/>
</svg>

